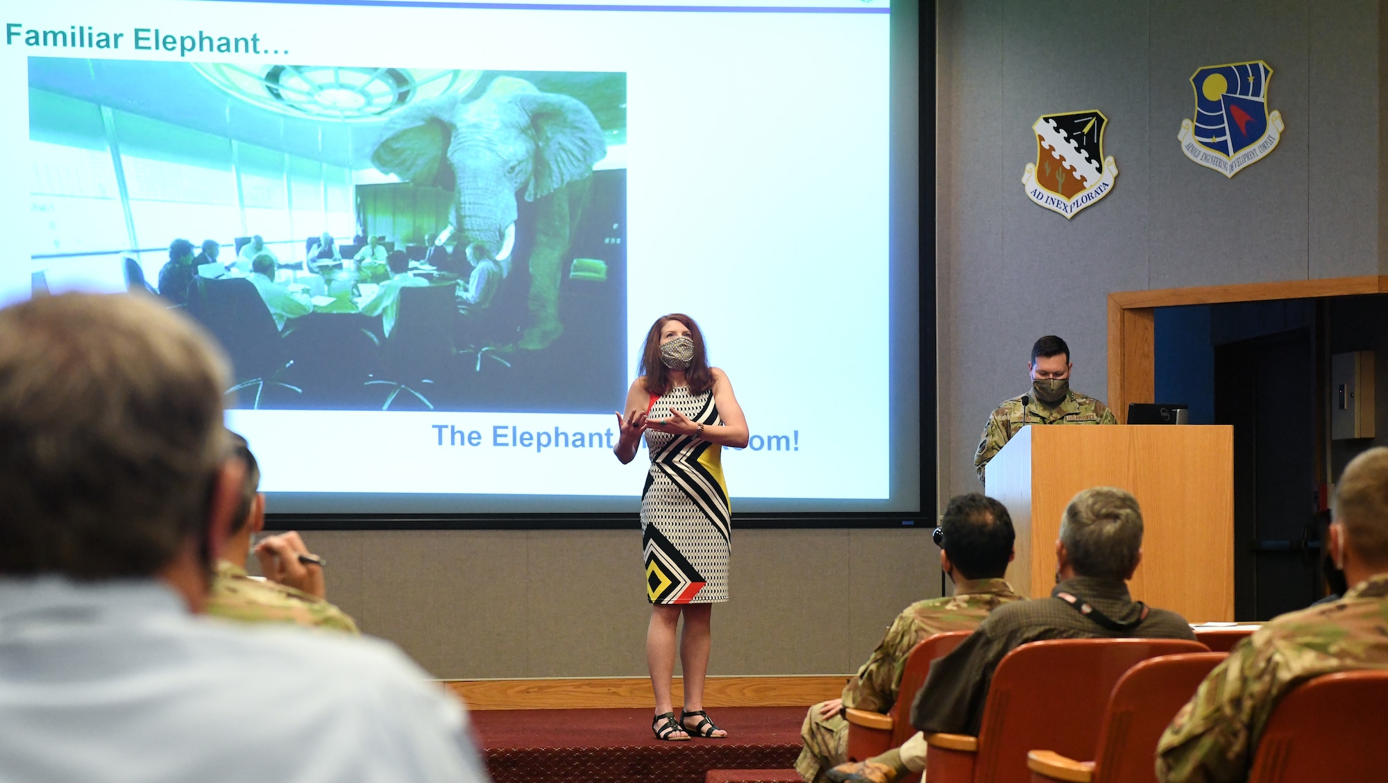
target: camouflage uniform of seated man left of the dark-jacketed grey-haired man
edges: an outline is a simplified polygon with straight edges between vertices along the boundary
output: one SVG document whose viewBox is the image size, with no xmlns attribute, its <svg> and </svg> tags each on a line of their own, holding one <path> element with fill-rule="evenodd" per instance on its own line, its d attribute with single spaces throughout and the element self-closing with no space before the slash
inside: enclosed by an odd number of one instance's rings
<svg viewBox="0 0 1388 783">
<path fill-rule="evenodd" d="M 1002 579 L 966 579 L 955 587 L 954 597 L 929 598 L 906 607 L 892 621 L 867 662 L 858 669 L 858 676 L 844 686 L 844 707 L 890 711 L 897 702 L 897 689 L 912 647 L 936 633 L 973 630 L 988 612 L 1020 598 Z M 809 708 L 799 729 L 805 747 L 795 761 L 795 769 L 811 783 L 822 772 L 847 761 L 848 752 L 848 722 L 838 715 L 820 718 L 820 704 Z"/>
</svg>

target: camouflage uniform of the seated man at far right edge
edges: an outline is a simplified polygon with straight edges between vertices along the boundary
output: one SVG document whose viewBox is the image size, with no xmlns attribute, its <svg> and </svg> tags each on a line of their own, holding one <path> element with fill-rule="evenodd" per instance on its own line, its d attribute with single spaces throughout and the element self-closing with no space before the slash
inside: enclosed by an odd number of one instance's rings
<svg viewBox="0 0 1388 783">
<path fill-rule="evenodd" d="M 1156 777 L 1246 780 L 1277 701 L 1314 676 L 1349 669 L 1388 669 L 1388 573 L 1238 643 L 1162 734 Z"/>
</svg>

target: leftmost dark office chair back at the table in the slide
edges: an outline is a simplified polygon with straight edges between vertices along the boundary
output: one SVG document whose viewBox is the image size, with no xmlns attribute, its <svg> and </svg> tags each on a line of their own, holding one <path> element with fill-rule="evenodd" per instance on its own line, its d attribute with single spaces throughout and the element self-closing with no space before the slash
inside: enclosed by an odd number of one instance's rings
<svg viewBox="0 0 1388 783">
<path fill-rule="evenodd" d="M 187 314 L 222 344 L 237 380 L 262 378 L 283 367 L 279 326 L 246 278 L 193 278 Z"/>
</svg>

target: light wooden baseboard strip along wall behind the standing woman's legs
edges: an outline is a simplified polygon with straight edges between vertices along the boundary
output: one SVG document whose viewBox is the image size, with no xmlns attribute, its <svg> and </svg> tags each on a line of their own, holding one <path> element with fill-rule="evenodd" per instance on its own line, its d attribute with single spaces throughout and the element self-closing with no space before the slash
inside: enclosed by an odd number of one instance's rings
<svg viewBox="0 0 1388 783">
<path fill-rule="evenodd" d="M 849 675 L 708 677 L 705 707 L 809 707 L 838 698 Z M 469 709 L 595 709 L 654 707 L 647 677 L 441 680 Z M 675 705 L 684 680 L 675 677 Z"/>
</svg>

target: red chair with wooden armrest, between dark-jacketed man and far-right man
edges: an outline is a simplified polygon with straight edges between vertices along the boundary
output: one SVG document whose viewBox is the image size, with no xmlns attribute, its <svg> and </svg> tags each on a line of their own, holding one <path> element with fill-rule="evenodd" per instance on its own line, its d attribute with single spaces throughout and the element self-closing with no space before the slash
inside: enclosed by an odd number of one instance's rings
<svg viewBox="0 0 1388 783">
<path fill-rule="evenodd" d="M 1156 741 L 1227 652 L 1148 658 L 1127 671 L 1109 696 L 1094 761 L 1049 750 L 1027 752 L 1031 783 L 1156 783 Z M 1094 751 L 1091 751 L 1094 754 Z"/>
</svg>

